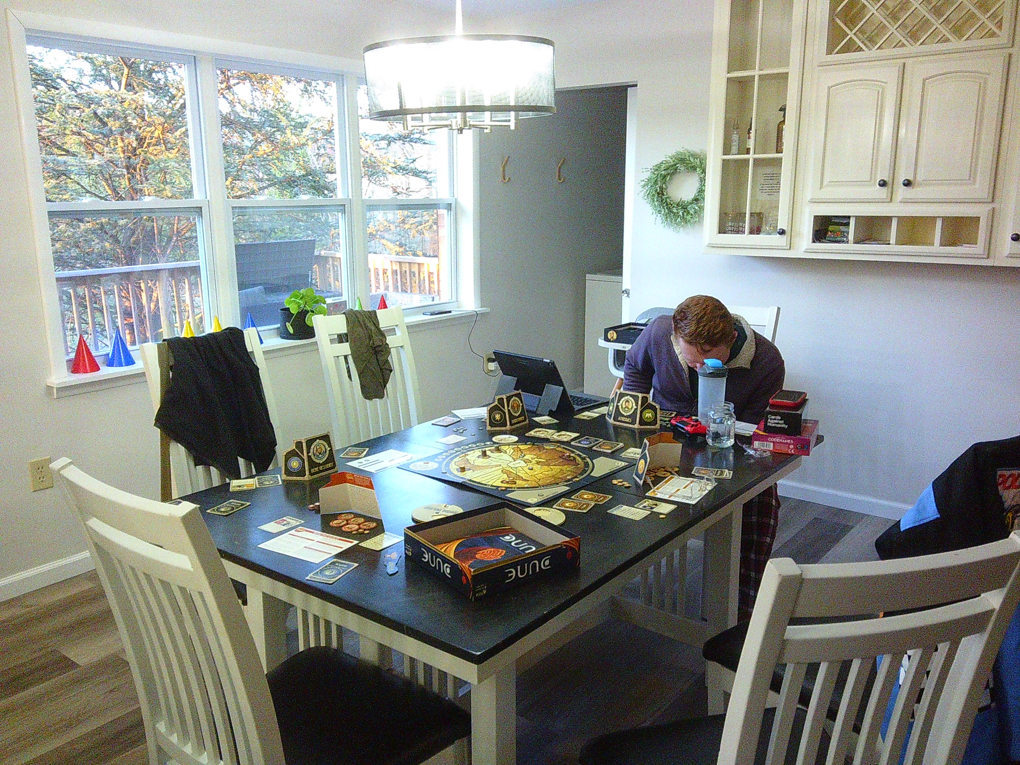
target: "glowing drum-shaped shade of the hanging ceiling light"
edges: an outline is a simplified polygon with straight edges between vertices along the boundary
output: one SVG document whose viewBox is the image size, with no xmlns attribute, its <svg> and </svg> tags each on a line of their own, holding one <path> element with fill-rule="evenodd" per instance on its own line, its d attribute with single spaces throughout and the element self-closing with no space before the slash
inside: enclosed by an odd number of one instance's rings
<svg viewBox="0 0 1020 765">
<path fill-rule="evenodd" d="M 556 112 L 555 47 L 545 38 L 419 37 L 364 53 L 371 119 L 464 130 Z"/>
</svg>

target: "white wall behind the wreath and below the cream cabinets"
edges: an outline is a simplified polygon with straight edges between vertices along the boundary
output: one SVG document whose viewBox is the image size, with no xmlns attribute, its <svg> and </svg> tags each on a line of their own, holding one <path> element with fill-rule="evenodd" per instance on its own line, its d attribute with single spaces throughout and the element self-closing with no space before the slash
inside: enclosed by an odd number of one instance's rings
<svg viewBox="0 0 1020 765">
<path fill-rule="evenodd" d="M 636 81 L 639 177 L 707 144 L 713 3 L 623 0 L 468 31 L 549 37 L 557 85 Z M 808 391 L 826 443 L 785 492 L 898 517 L 974 441 L 1020 432 L 1020 269 L 703 254 L 635 203 L 624 286 L 631 315 L 716 295 L 779 305 L 787 387 Z"/>
</svg>

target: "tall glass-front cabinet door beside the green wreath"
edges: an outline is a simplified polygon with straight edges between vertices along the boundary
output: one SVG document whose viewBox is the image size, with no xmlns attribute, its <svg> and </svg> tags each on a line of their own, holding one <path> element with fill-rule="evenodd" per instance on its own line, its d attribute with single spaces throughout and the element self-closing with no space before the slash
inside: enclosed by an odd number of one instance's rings
<svg viewBox="0 0 1020 765">
<path fill-rule="evenodd" d="M 705 230 L 709 245 L 788 249 L 804 0 L 718 0 Z"/>
</svg>

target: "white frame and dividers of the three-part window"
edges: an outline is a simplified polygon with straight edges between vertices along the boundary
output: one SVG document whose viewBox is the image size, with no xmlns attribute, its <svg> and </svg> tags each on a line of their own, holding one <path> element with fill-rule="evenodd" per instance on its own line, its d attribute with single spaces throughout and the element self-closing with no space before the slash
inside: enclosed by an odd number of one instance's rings
<svg viewBox="0 0 1020 765">
<path fill-rule="evenodd" d="M 476 149 L 470 150 L 458 137 L 450 137 L 448 159 L 451 197 L 441 199 L 371 200 L 366 205 L 361 196 L 361 155 L 358 126 L 357 89 L 364 79 L 360 60 L 315 53 L 215 40 L 199 36 L 167 33 L 145 28 L 56 16 L 28 10 L 7 9 L 8 41 L 14 71 L 14 97 L 21 132 L 22 151 L 27 165 L 28 194 L 34 237 L 36 261 L 43 302 L 43 320 L 50 362 L 48 381 L 73 379 L 64 353 L 59 290 L 50 239 L 49 212 L 88 209 L 101 211 L 105 205 L 118 205 L 117 211 L 146 210 L 165 214 L 178 209 L 183 214 L 197 214 L 201 221 L 198 237 L 204 309 L 211 323 L 218 316 L 223 324 L 241 319 L 239 314 L 237 269 L 234 251 L 234 203 L 248 207 L 308 207 L 341 208 L 346 222 L 347 252 L 351 254 L 347 267 L 348 284 L 345 297 L 349 305 L 358 298 L 367 303 L 369 295 L 368 255 L 366 246 L 366 208 L 371 206 L 444 207 L 448 210 L 450 235 L 449 279 L 451 299 L 405 309 L 408 316 L 438 307 L 456 308 L 466 298 L 471 306 L 477 298 L 476 185 L 471 167 L 476 162 Z M 97 53 L 133 54 L 136 57 L 169 60 L 186 65 L 186 97 L 188 103 L 188 136 L 192 163 L 193 198 L 182 200 L 143 200 L 139 202 L 47 202 L 43 182 L 42 157 L 36 126 L 32 76 L 27 47 L 29 45 L 87 46 Z M 218 107 L 217 68 L 220 66 L 310 79 L 332 79 L 337 83 L 337 174 L 338 196 L 310 200 L 231 200 L 226 196 Z M 472 140 L 472 139 L 469 139 Z M 476 145 L 476 140 L 473 141 Z M 465 151 L 465 148 L 467 149 Z M 463 155 L 463 156 L 462 156 Z M 465 172 L 466 169 L 466 172 Z M 344 189 L 343 184 L 347 185 Z M 468 196 L 465 198 L 464 193 Z M 112 209 L 112 208 L 108 208 Z M 472 234 L 473 233 L 473 234 Z M 471 250 L 462 252 L 464 245 Z M 240 323 L 240 321 L 239 321 Z M 208 330 L 208 327 L 207 327 Z M 269 333 L 271 336 L 272 333 Z M 120 376 L 138 371 L 103 367 L 94 376 Z M 52 387 L 52 385 L 51 385 Z M 56 389 L 54 389 L 54 392 Z"/>
</svg>

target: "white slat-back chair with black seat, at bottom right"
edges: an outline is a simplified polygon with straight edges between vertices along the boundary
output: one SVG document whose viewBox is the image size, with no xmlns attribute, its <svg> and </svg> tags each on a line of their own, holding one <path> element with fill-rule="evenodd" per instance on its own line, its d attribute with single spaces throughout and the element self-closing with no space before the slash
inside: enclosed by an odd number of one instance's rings
<svg viewBox="0 0 1020 765">
<path fill-rule="evenodd" d="M 584 747 L 581 765 L 844 765 L 848 757 L 854 765 L 896 765 L 901 756 L 904 765 L 957 765 L 1018 601 L 1020 533 L 882 563 L 770 560 L 728 713 L 601 736 Z M 779 664 L 778 706 L 766 710 Z M 804 709 L 809 667 L 817 674 Z"/>
</svg>

